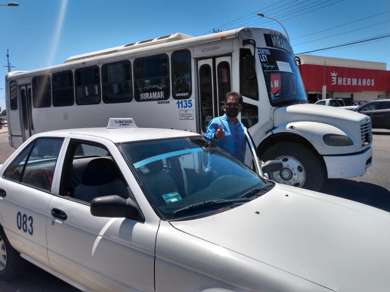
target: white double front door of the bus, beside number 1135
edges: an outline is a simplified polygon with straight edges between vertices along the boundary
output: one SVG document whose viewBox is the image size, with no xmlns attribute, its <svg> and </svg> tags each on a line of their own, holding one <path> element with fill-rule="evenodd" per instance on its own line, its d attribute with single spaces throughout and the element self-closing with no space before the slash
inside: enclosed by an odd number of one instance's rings
<svg viewBox="0 0 390 292">
<path fill-rule="evenodd" d="M 223 115 L 226 93 L 232 90 L 232 57 L 215 57 L 198 60 L 199 121 L 205 134 L 209 122 Z"/>
</svg>

